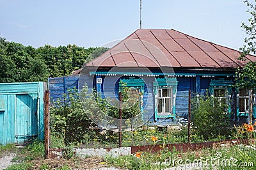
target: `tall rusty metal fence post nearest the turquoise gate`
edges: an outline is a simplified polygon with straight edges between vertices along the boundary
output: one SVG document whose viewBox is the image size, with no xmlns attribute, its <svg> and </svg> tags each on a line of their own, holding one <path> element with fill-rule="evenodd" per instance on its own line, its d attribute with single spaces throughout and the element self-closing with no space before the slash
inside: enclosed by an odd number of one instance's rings
<svg viewBox="0 0 256 170">
<path fill-rule="evenodd" d="M 49 90 L 45 91 L 44 96 L 44 158 L 49 158 L 49 144 L 50 144 L 50 135 L 49 135 Z"/>
</svg>

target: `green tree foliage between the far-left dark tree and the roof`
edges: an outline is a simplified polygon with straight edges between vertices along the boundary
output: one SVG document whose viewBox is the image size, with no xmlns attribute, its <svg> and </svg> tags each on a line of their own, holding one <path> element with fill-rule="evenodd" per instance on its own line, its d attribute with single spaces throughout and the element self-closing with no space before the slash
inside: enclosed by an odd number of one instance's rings
<svg viewBox="0 0 256 170">
<path fill-rule="evenodd" d="M 76 45 L 67 45 L 67 47 L 45 45 L 36 50 L 44 57 L 50 77 L 61 77 L 78 70 L 85 61 L 87 62 L 102 54 L 105 51 L 104 49 L 102 47 L 84 49 Z"/>
</svg>

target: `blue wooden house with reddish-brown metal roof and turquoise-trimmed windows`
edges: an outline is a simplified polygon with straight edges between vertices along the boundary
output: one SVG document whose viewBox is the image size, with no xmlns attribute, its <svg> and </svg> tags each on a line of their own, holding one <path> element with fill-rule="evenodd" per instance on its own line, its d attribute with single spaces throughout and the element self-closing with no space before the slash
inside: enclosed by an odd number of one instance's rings
<svg viewBox="0 0 256 170">
<path fill-rule="evenodd" d="M 84 65 L 79 86 L 86 82 L 102 98 L 118 98 L 120 82 L 125 82 L 143 94 L 143 120 L 154 125 L 177 123 L 177 118 L 188 116 L 189 89 L 199 95 L 209 91 L 227 102 L 232 120 L 244 121 L 248 89 L 232 87 L 237 67 L 246 64 L 237 59 L 239 55 L 173 29 L 138 29 Z M 256 61 L 254 56 L 246 59 Z"/>
</svg>

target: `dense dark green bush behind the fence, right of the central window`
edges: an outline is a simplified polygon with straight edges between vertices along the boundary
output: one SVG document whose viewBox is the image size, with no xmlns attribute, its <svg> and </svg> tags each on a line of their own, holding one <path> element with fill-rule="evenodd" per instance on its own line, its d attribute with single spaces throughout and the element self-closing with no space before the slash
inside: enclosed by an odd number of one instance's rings
<svg viewBox="0 0 256 170">
<path fill-rule="evenodd" d="M 221 102 L 218 98 L 199 97 L 197 100 L 198 108 L 195 107 L 195 101 L 192 117 L 196 128 L 196 134 L 203 136 L 204 139 L 214 139 L 221 136 L 228 137 L 232 134 L 230 118 L 226 113 L 227 104 Z"/>
</svg>

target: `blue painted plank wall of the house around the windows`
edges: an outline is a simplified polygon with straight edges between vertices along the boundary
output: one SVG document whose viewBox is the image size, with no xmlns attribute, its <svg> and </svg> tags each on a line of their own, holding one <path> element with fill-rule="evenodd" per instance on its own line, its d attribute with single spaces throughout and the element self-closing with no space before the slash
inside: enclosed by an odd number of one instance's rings
<svg viewBox="0 0 256 170">
<path fill-rule="evenodd" d="M 182 76 L 180 76 L 183 74 Z M 177 118 L 187 117 L 188 116 L 188 91 L 191 89 L 193 94 L 204 95 L 207 90 L 209 90 L 210 82 L 212 80 L 225 79 L 227 81 L 234 81 L 234 77 L 232 77 L 232 73 L 230 75 L 226 75 L 226 73 L 216 72 L 214 73 L 177 73 L 177 95 L 176 95 L 176 116 Z M 219 75 L 218 75 L 219 74 Z M 134 77 L 134 76 L 132 76 Z M 81 78 L 81 77 L 80 77 Z M 96 79 L 100 78 L 102 80 L 102 84 L 97 84 Z M 92 91 L 93 88 L 97 90 L 98 93 L 101 93 L 103 98 L 118 98 L 118 84 L 120 79 L 128 79 L 129 76 L 123 75 L 84 75 L 83 79 L 87 82 L 89 89 Z M 145 82 L 145 93 L 143 94 L 143 119 L 145 121 L 150 121 L 154 124 L 157 122 L 154 121 L 154 103 L 155 97 L 153 93 L 153 82 L 155 77 L 142 77 Z M 76 87 L 78 88 L 78 76 L 70 76 L 70 77 L 58 77 L 49 79 L 49 88 L 50 88 L 50 96 L 53 100 L 60 98 L 63 93 L 67 92 L 68 88 Z M 231 95 L 231 107 L 234 115 L 232 116 L 232 121 L 236 121 L 236 93 L 234 89 L 232 90 Z M 254 105 L 256 108 L 256 106 Z M 256 110 L 256 109 L 255 109 Z M 169 123 L 175 124 L 177 120 L 172 119 L 159 119 L 159 122 L 164 123 L 163 121 L 168 121 Z"/>
</svg>

